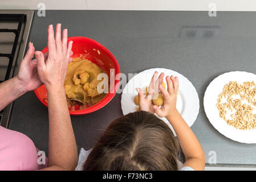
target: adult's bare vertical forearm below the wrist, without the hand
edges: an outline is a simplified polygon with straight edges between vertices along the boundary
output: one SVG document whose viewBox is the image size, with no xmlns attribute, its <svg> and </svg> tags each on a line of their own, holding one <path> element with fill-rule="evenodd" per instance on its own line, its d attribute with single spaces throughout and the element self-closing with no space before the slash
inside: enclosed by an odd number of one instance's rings
<svg viewBox="0 0 256 182">
<path fill-rule="evenodd" d="M 76 140 L 68 111 L 66 93 L 61 86 L 47 86 L 49 113 L 48 168 L 74 170 L 78 162 Z"/>
</svg>

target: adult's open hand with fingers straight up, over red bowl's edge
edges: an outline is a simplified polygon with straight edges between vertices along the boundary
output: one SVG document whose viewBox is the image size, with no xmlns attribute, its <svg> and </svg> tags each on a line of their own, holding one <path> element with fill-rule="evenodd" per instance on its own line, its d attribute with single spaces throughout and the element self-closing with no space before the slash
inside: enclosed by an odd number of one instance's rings
<svg viewBox="0 0 256 182">
<path fill-rule="evenodd" d="M 44 59 L 43 53 L 35 52 L 38 60 L 38 75 L 40 80 L 46 85 L 59 86 L 64 88 L 64 80 L 67 74 L 68 63 L 72 60 L 72 41 L 67 46 L 67 29 L 63 30 L 61 39 L 61 24 L 56 25 L 55 38 L 52 24 L 48 27 L 48 57 Z"/>
</svg>

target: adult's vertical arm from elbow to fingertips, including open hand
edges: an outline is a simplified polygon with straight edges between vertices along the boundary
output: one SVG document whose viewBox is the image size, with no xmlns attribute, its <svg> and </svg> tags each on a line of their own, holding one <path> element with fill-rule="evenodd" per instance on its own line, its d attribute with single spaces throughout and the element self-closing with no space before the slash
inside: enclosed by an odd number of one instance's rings
<svg viewBox="0 0 256 182">
<path fill-rule="evenodd" d="M 38 75 L 46 85 L 49 113 L 48 166 L 44 170 L 74 170 L 78 163 L 76 140 L 64 90 L 64 79 L 70 61 L 72 42 L 67 47 L 67 29 L 61 40 L 60 24 L 56 25 L 55 39 L 52 25 L 48 27 L 48 58 L 35 52 Z"/>
</svg>

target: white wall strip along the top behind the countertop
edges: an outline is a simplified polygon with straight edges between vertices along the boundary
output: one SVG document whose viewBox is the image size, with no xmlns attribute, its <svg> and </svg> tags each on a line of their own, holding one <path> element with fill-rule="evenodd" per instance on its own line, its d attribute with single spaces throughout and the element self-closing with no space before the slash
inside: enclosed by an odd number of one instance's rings
<svg viewBox="0 0 256 182">
<path fill-rule="evenodd" d="M 47 10 L 186 10 L 208 11 L 216 3 L 217 11 L 256 11 L 255 0 L 0 0 L 0 9 Z"/>
</svg>

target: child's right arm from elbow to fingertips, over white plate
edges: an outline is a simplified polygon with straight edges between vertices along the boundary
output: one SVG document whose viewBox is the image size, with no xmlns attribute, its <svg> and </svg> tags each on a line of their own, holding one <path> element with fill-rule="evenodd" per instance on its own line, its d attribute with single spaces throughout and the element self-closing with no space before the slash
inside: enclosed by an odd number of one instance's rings
<svg viewBox="0 0 256 182">
<path fill-rule="evenodd" d="M 164 96 L 164 105 L 162 105 L 161 108 L 155 105 L 153 106 L 153 109 L 159 117 L 166 117 L 176 132 L 178 141 L 186 159 L 184 167 L 189 166 L 195 170 L 204 170 L 204 150 L 198 142 L 196 135 L 194 135 L 193 131 L 186 124 L 176 109 L 178 78 L 167 76 L 166 82 L 168 85 L 167 90 L 162 85 L 159 85 L 159 89 Z"/>
</svg>

